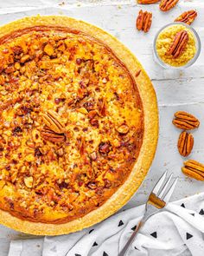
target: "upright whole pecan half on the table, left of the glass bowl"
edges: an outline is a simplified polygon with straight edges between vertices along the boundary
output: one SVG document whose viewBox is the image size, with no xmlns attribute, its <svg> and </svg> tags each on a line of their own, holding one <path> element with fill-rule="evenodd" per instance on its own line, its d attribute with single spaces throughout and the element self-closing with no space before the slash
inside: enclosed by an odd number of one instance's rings
<svg viewBox="0 0 204 256">
<path fill-rule="evenodd" d="M 148 11 L 140 10 L 137 16 L 136 28 L 137 30 L 143 30 L 144 33 L 150 30 L 152 13 Z"/>
</svg>

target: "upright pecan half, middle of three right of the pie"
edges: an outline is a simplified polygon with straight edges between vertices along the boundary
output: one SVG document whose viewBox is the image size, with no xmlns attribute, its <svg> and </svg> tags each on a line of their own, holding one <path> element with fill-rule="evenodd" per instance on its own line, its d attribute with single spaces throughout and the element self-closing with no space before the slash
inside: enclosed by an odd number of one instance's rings
<svg viewBox="0 0 204 256">
<path fill-rule="evenodd" d="M 194 147 L 194 137 L 192 134 L 187 132 L 182 132 L 178 139 L 178 151 L 182 156 L 188 156 L 191 153 L 192 148 Z"/>
</svg>

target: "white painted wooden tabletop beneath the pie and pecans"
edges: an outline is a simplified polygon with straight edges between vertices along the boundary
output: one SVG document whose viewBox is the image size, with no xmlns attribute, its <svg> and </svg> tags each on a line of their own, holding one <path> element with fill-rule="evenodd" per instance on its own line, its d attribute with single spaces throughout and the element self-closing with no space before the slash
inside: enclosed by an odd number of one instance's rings
<svg viewBox="0 0 204 256">
<path fill-rule="evenodd" d="M 146 35 L 135 30 L 135 20 L 140 9 L 153 13 L 153 23 Z M 137 194 L 125 207 L 142 204 L 158 177 L 165 171 L 179 177 L 172 200 L 204 191 L 204 183 L 186 178 L 182 172 L 182 157 L 177 152 L 176 143 L 180 131 L 171 124 L 177 110 L 186 110 L 199 118 L 201 127 L 194 131 L 194 150 L 190 158 L 204 162 L 204 50 L 194 66 L 178 71 L 162 69 L 153 61 L 152 42 L 164 24 L 172 22 L 184 10 L 198 11 L 193 27 L 204 40 L 204 2 L 202 0 L 180 0 L 169 13 L 159 11 L 157 4 L 137 5 L 134 0 L 0 0 L 0 25 L 23 16 L 40 13 L 73 16 L 95 24 L 110 32 L 137 56 L 150 75 L 155 86 L 160 112 L 160 136 L 156 157 L 150 172 Z M 37 9 L 37 10 L 36 10 Z M 15 13 L 14 13 L 15 12 Z M 27 237 L 9 228 L 0 226 L 0 256 L 8 253 L 10 239 Z M 41 250 L 41 242 L 35 244 Z M 30 253 L 34 256 L 35 253 Z"/>
</svg>

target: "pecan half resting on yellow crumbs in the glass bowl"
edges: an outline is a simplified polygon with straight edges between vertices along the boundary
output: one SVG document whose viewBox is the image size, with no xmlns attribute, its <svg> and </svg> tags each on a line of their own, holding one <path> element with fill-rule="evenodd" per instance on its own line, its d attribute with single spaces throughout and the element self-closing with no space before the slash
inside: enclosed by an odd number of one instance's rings
<svg viewBox="0 0 204 256">
<path fill-rule="evenodd" d="M 188 43 L 188 32 L 186 30 L 179 31 L 175 35 L 174 42 L 170 45 L 166 55 L 177 58 L 182 55 Z"/>
</svg>

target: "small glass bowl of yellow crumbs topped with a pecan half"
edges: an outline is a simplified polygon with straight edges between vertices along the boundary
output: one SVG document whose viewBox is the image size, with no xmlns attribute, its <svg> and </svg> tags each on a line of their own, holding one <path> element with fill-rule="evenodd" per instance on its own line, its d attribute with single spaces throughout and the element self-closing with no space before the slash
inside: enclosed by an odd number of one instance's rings
<svg viewBox="0 0 204 256">
<path fill-rule="evenodd" d="M 201 52 L 201 40 L 187 23 L 169 23 L 156 33 L 154 59 L 164 69 L 185 69 Z"/>
</svg>

